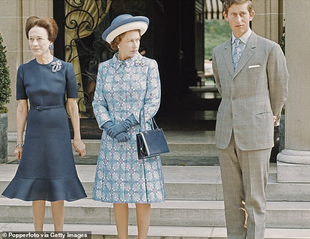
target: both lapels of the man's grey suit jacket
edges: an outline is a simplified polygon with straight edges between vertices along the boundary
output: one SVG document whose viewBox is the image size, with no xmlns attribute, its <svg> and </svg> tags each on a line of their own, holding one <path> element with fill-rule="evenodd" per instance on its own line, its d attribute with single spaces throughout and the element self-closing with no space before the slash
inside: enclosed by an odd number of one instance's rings
<svg viewBox="0 0 310 239">
<path fill-rule="evenodd" d="M 236 71 L 234 71 L 234 66 L 232 64 L 232 56 L 231 56 L 231 39 L 227 40 L 224 43 L 224 51 L 223 57 L 225 59 L 225 63 L 229 70 L 229 73 L 234 78 L 244 67 L 244 65 L 251 59 L 253 54 L 255 53 L 255 48 L 257 46 L 257 35 L 255 32 L 252 31 L 252 34 L 245 45 L 244 51 L 240 58 L 240 62 L 237 65 Z"/>
</svg>

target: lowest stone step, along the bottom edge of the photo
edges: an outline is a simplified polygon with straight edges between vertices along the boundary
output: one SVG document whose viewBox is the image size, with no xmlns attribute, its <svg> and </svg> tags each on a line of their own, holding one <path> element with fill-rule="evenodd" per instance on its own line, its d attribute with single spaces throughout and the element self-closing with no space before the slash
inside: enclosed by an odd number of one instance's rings
<svg viewBox="0 0 310 239">
<path fill-rule="evenodd" d="M 45 232 L 52 232 L 52 224 L 44 224 Z M 0 223 L 0 232 L 33 231 L 32 223 Z M 65 232 L 89 232 L 92 239 L 115 239 L 115 225 L 65 224 Z M 137 239 L 137 227 L 129 226 L 129 236 Z M 0 239 L 1 238 L 0 234 Z M 150 226 L 148 237 L 152 239 L 227 239 L 225 227 L 174 227 Z M 310 229 L 266 228 L 265 239 L 309 239 Z M 4 238 L 3 238 L 4 239 Z"/>
</svg>

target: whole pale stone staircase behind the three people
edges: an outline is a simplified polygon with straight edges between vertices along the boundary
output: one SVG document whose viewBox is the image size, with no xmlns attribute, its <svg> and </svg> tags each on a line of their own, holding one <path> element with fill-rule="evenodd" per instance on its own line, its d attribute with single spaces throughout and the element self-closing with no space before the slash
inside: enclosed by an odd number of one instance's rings
<svg viewBox="0 0 310 239">
<path fill-rule="evenodd" d="M 216 157 L 214 131 L 165 131 L 171 153 L 164 161 Z M 85 141 L 96 155 L 99 140 Z M 208 155 L 208 157 L 206 157 Z M 81 159 L 83 160 L 83 159 Z M 164 165 L 167 198 L 152 204 L 149 238 L 225 239 L 224 205 L 219 166 Z M 192 164 L 195 165 L 195 164 Z M 208 164 L 204 164 L 208 165 Z M 76 165 L 88 198 L 65 202 L 65 231 L 91 231 L 94 238 L 114 239 L 117 232 L 111 203 L 91 197 L 95 165 Z M 14 176 L 17 164 L 0 165 L 0 192 Z M 265 239 L 310 239 L 310 184 L 278 183 L 276 165 L 270 164 L 267 186 Z M 46 203 L 45 231 L 53 231 L 50 204 Z M 129 234 L 136 238 L 134 204 L 129 204 Z M 0 231 L 32 231 L 31 202 L 0 197 Z M 0 234 L 1 239 L 1 234 Z"/>
</svg>

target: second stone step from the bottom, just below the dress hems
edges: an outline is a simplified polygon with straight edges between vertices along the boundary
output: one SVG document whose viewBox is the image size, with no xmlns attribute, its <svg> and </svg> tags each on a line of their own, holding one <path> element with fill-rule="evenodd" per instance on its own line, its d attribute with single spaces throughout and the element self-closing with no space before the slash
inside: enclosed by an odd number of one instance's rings
<svg viewBox="0 0 310 239">
<path fill-rule="evenodd" d="M 113 204 L 81 199 L 65 202 L 65 223 L 114 225 Z M 266 227 L 310 228 L 310 202 L 267 202 Z M 32 222 L 32 203 L 0 198 L 0 222 Z M 135 205 L 129 204 L 129 224 L 135 225 Z M 52 222 L 50 203 L 45 221 Z M 96 220 L 94 221 L 94 218 Z M 166 200 L 152 204 L 152 226 L 225 227 L 223 201 Z"/>
</svg>

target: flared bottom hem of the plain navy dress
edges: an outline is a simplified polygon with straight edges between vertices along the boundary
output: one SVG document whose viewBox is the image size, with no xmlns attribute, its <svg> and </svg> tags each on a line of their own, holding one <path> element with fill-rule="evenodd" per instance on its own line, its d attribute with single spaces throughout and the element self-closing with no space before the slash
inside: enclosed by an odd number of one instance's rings
<svg viewBox="0 0 310 239">
<path fill-rule="evenodd" d="M 15 176 L 2 193 L 23 201 L 75 201 L 87 197 L 78 177 L 59 179 L 29 179 Z"/>
</svg>

